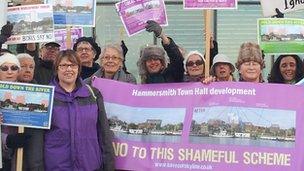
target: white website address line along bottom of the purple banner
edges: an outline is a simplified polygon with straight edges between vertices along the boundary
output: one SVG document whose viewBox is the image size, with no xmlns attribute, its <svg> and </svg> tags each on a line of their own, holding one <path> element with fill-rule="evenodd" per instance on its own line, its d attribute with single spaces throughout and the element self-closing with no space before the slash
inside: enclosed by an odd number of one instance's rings
<svg viewBox="0 0 304 171">
<path fill-rule="evenodd" d="M 174 168 L 174 169 L 189 169 L 189 170 L 212 170 L 211 165 L 198 164 L 182 164 L 182 163 L 154 163 L 158 168 Z"/>
</svg>

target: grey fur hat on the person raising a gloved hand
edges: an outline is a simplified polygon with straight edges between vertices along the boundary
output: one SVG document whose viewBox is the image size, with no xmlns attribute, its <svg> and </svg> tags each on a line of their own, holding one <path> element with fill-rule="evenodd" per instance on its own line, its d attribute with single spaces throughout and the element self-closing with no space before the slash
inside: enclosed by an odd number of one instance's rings
<svg viewBox="0 0 304 171">
<path fill-rule="evenodd" d="M 165 50 L 157 46 L 147 46 L 141 50 L 142 59 L 148 60 L 150 58 L 159 58 L 165 61 Z"/>
</svg>

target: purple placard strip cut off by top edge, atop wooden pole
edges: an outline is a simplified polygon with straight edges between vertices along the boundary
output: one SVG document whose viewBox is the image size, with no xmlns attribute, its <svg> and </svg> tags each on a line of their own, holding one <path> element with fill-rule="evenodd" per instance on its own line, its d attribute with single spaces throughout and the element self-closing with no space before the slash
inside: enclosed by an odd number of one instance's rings
<svg viewBox="0 0 304 171">
<path fill-rule="evenodd" d="M 237 0 L 183 0 L 184 9 L 237 9 Z"/>
</svg>

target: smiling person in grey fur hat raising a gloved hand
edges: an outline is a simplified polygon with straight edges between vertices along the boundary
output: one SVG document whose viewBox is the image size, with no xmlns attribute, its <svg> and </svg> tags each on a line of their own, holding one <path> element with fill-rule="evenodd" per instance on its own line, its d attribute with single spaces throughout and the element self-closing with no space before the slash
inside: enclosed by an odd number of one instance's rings
<svg viewBox="0 0 304 171">
<path fill-rule="evenodd" d="M 141 82 L 144 84 L 182 82 L 184 64 L 178 46 L 165 35 L 161 26 L 155 21 L 147 21 L 146 30 L 162 39 L 163 48 L 147 46 L 141 49 L 140 59 L 137 62 Z M 169 64 L 165 58 L 166 53 Z"/>
</svg>

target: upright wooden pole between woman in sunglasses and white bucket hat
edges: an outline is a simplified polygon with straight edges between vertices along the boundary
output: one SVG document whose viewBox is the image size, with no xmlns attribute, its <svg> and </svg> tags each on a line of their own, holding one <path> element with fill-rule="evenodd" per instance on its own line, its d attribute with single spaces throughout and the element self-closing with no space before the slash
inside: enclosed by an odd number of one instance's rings
<svg viewBox="0 0 304 171">
<path fill-rule="evenodd" d="M 209 77 L 210 70 L 210 39 L 211 39 L 211 18 L 212 10 L 204 10 L 205 16 L 205 78 Z"/>
</svg>

